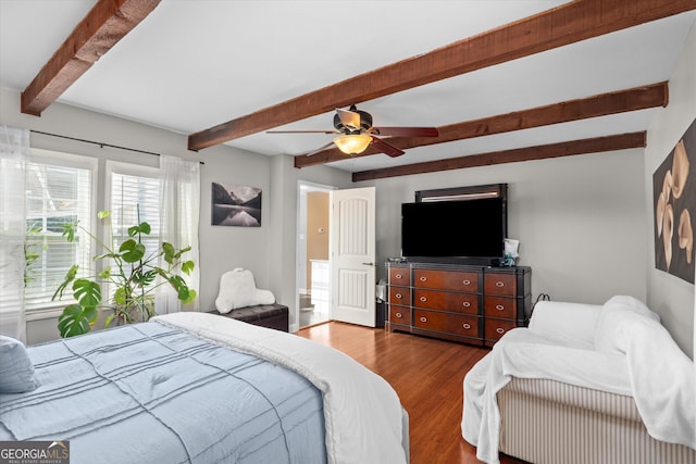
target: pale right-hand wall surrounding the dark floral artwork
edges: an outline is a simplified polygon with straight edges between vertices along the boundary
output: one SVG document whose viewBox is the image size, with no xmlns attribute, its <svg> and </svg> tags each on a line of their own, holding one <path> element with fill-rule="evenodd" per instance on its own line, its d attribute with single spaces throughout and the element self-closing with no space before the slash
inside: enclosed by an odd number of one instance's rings
<svg viewBox="0 0 696 464">
<path fill-rule="evenodd" d="M 648 305 L 662 318 L 681 349 L 694 359 L 694 285 L 655 267 L 652 229 L 652 173 L 674 149 L 686 128 L 696 120 L 696 25 L 686 38 L 670 79 L 670 102 L 648 128 L 645 150 L 645 204 L 648 211 L 645 228 L 647 240 Z M 689 177 L 696 175 L 694 166 Z"/>
</svg>

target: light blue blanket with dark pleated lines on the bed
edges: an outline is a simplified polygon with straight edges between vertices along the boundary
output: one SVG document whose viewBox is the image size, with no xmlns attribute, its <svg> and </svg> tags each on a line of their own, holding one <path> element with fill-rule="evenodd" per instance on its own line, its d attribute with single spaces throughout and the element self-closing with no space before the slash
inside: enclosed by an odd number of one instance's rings
<svg viewBox="0 0 696 464">
<path fill-rule="evenodd" d="M 70 440 L 80 463 L 323 463 L 302 376 L 157 323 L 29 347 L 39 388 L 0 394 L 0 440 Z"/>
</svg>

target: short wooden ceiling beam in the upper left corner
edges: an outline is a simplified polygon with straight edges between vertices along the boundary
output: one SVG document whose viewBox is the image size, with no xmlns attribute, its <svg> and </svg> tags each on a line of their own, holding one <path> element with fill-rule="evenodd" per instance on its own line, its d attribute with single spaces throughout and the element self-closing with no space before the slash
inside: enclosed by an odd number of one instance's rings
<svg viewBox="0 0 696 464">
<path fill-rule="evenodd" d="M 160 0 L 99 0 L 22 92 L 22 113 L 40 116 L 137 26 Z"/>
</svg>

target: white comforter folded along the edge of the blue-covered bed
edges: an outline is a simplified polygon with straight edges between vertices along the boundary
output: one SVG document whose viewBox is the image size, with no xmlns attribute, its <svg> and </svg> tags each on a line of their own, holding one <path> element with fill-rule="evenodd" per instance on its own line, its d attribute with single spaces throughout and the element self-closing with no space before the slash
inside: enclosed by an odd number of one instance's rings
<svg viewBox="0 0 696 464">
<path fill-rule="evenodd" d="M 407 462 L 399 398 L 382 377 L 350 356 L 301 337 L 212 314 L 175 313 L 150 321 L 304 376 L 323 393 L 330 463 Z"/>
</svg>

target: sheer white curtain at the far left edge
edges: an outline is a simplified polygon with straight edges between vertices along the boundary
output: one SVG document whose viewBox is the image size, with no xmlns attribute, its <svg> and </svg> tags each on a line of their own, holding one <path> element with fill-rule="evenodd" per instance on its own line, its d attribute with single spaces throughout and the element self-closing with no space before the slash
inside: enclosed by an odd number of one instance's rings
<svg viewBox="0 0 696 464">
<path fill-rule="evenodd" d="M 0 334 L 26 342 L 24 166 L 29 131 L 0 126 Z"/>
</svg>

